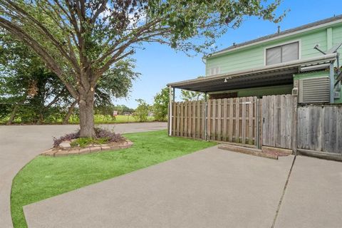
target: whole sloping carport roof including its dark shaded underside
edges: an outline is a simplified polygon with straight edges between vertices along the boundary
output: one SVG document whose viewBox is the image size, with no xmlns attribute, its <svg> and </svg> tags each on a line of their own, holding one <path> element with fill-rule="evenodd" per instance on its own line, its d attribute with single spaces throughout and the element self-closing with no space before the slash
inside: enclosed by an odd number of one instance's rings
<svg viewBox="0 0 342 228">
<path fill-rule="evenodd" d="M 214 76 L 195 78 L 187 81 L 169 83 L 167 86 L 204 93 L 240 88 L 254 88 L 261 86 L 288 85 L 293 82 L 293 74 L 299 73 L 306 66 L 326 66 L 336 60 L 336 53 L 322 55 L 305 60 L 279 63 L 245 71 L 234 71 Z"/>
</svg>

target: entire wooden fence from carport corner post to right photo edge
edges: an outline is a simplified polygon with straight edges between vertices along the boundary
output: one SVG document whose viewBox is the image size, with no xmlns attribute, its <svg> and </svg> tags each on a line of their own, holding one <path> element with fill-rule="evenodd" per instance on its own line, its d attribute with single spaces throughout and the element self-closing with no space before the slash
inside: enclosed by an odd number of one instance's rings
<svg viewBox="0 0 342 228">
<path fill-rule="evenodd" d="M 296 115 L 294 101 L 269 95 L 212 99 L 207 107 L 204 101 L 174 102 L 171 135 L 342 154 L 342 105 L 301 106 Z"/>
</svg>

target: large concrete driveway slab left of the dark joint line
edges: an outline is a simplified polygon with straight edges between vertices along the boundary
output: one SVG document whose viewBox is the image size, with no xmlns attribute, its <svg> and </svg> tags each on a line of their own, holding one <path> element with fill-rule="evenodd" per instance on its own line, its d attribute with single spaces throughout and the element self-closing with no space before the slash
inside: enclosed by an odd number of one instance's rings
<svg viewBox="0 0 342 228">
<path fill-rule="evenodd" d="M 24 207 L 38 227 L 271 227 L 293 156 L 211 147 Z"/>
</svg>

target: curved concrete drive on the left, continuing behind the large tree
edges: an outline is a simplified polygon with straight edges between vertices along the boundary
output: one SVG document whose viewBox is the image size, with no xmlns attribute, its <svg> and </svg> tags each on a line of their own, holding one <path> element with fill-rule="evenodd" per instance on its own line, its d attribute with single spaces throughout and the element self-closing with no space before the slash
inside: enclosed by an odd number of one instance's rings
<svg viewBox="0 0 342 228">
<path fill-rule="evenodd" d="M 117 133 L 135 133 L 167 128 L 166 123 L 103 125 Z M 71 133 L 78 125 L 0 126 L 0 227 L 12 227 L 10 212 L 11 182 L 27 162 L 52 146 L 53 136 Z"/>
</svg>

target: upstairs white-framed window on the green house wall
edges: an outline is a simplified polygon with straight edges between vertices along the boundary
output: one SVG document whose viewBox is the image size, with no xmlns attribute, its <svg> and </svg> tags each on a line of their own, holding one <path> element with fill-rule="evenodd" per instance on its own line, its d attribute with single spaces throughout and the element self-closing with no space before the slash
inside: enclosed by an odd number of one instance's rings
<svg viewBox="0 0 342 228">
<path fill-rule="evenodd" d="M 299 42 L 288 43 L 266 49 L 266 65 L 299 59 Z"/>
</svg>

